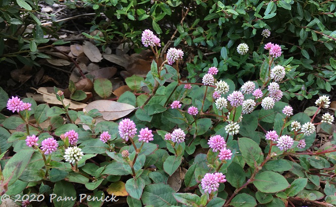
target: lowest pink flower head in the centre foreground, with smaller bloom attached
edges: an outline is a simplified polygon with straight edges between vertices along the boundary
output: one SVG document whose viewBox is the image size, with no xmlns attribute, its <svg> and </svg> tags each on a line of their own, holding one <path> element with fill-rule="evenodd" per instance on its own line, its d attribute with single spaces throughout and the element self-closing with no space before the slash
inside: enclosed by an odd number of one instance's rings
<svg viewBox="0 0 336 207">
<path fill-rule="evenodd" d="M 222 173 L 207 173 L 201 181 L 202 189 L 211 193 L 218 190 L 219 183 L 226 182 L 225 175 Z"/>
</svg>

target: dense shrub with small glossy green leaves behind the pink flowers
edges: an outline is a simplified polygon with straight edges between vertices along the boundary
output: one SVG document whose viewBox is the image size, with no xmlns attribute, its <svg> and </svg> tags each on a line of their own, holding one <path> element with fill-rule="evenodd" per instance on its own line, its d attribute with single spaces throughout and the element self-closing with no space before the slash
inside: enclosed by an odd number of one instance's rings
<svg viewBox="0 0 336 207">
<path fill-rule="evenodd" d="M 139 45 L 138 34 L 148 28 L 161 34 L 161 42 L 166 43 L 176 28 L 174 47 L 182 47 L 194 56 L 193 63 L 187 63 L 188 78 L 193 82 L 212 64 L 223 78 L 230 78 L 236 84 L 243 84 L 247 78 L 258 78 L 262 63 L 255 60 L 256 56 L 264 50 L 265 43 L 272 42 L 291 53 L 285 57 L 293 58 L 292 64 L 297 65 L 292 74 L 296 78 L 285 86 L 291 97 L 310 99 L 318 91 L 330 92 L 336 85 L 333 59 L 336 3 L 333 1 L 85 2 L 97 14 L 104 12 L 111 20 L 108 25 L 104 21 L 91 27 L 91 30 L 100 29 L 104 38 L 88 36 L 104 44 L 118 37 Z M 180 16 L 181 10 L 185 16 Z M 271 31 L 269 38 L 261 36 L 265 28 Z M 236 52 L 240 43 L 248 44 L 248 55 L 240 56 Z"/>
</svg>

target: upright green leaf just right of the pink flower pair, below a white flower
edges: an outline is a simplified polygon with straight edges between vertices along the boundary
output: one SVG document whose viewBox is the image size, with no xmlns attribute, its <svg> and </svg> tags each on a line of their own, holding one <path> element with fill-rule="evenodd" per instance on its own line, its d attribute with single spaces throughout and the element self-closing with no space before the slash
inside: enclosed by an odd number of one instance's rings
<svg viewBox="0 0 336 207">
<path fill-rule="evenodd" d="M 259 145 L 249 138 L 238 138 L 239 151 L 241 151 L 246 163 L 254 168 L 264 160 L 263 153 Z"/>
</svg>

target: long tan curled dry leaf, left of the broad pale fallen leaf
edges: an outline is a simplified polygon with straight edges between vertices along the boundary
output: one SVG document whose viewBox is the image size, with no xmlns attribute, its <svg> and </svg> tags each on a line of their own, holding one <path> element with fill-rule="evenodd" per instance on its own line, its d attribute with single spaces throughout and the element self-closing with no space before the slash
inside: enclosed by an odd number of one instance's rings
<svg viewBox="0 0 336 207">
<path fill-rule="evenodd" d="M 34 89 L 34 88 L 31 88 L 31 89 Z M 56 94 L 47 92 L 46 88 L 41 87 L 39 89 L 34 89 L 34 90 L 37 93 L 42 95 L 42 100 L 38 94 L 37 96 L 35 96 L 36 94 L 27 93 L 27 97 L 33 98 L 35 101 L 43 101 L 49 104 L 62 105 L 61 102 L 57 100 Z M 69 99 L 64 99 L 64 104 L 66 106 L 70 104 L 70 107 L 69 107 L 70 109 L 77 109 L 77 110 L 83 109 L 87 106 L 87 104 L 85 103 L 79 103 L 77 101 L 71 101 Z"/>
</svg>

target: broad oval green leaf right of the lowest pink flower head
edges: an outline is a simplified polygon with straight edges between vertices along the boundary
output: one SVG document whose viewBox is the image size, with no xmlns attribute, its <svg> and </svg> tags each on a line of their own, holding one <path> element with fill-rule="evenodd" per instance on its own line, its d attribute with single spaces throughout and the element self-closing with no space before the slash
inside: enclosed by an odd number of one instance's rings
<svg viewBox="0 0 336 207">
<path fill-rule="evenodd" d="M 272 171 L 257 174 L 253 184 L 259 191 L 264 193 L 276 193 L 290 187 L 290 184 L 283 176 Z"/>
</svg>

